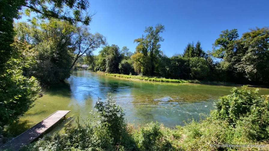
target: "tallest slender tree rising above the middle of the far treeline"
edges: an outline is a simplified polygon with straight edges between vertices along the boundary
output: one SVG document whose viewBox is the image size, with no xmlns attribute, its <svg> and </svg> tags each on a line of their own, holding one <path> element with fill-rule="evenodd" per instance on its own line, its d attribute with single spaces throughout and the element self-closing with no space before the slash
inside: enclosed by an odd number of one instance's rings
<svg viewBox="0 0 269 151">
<path fill-rule="evenodd" d="M 146 27 L 144 33 L 147 34 L 142 35 L 141 38 L 134 40 L 134 42 L 139 43 L 138 46 L 140 48 L 137 50 L 141 52 L 145 57 L 147 55 L 150 57 L 151 67 L 149 69 L 149 74 L 151 76 L 154 74 L 156 58 L 160 53 L 161 45 L 159 42 L 164 41 L 164 39 L 159 35 L 163 31 L 165 31 L 165 27 L 161 24 L 157 24 L 155 29 L 152 26 Z"/>
</svg>

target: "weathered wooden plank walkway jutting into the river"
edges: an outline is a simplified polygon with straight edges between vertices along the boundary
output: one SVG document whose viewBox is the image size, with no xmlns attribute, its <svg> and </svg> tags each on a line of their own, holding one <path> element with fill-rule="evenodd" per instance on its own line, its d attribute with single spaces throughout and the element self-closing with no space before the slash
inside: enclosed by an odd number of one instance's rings
<svg viewBox="0 0 269 151">
<path fill-rule="evenodd" d="M 31 129 L 23 132 L 21 135 L 17 136 L 16 138 L 12 139 L 11 141 L 4 144 L 0 150 L 5 150 L 11 148 L 12 150 L 20 150 L 20 147 L 23 145 L 27 145 L 34 141 L 38 136 L 42 133 L 47 131 L 50 127 L 52 127 L 55 123 L 57 123 L 62 117 L 64 117 L 70 111 L 61 111 L 58 110 L 42 120 L 41 122 L 37 123 Z"/>
</svg>

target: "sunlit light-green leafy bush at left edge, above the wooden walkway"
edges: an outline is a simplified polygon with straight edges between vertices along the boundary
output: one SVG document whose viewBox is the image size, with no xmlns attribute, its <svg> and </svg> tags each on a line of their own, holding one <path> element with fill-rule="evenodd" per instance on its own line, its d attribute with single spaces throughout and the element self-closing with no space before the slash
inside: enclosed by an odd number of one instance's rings
<svg viewBox="0 0 269 151">
<path fill-rule="evenodd" d="M 29 45 L 15 39 L 11 47 L 17 53 L 13 53 L 0 74 L 0 131 L 33 107 L 41 90 L 35 77 L 23 76 L 23 69 L 32 62 L 31 57 L 26 55 Z"/>
</svg>

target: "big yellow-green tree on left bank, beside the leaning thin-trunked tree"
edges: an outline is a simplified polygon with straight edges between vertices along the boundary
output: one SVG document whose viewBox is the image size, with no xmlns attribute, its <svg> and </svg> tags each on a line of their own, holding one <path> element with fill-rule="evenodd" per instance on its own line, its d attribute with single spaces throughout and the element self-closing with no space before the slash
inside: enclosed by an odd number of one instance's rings
<svg viewBox="0 0 269 151">
<path fill-rule="evenodd" d="M 36 60 L 25 75 L 36 77 L 42 84 L 54 84 L 69 78 L 73 63 L 73 38 L 75 26 L 67 21 L 50 19 L 48 22 L 32 20 L 15 25 L 20 41 L 27 40 L 34 50 Z"/>
</svg>

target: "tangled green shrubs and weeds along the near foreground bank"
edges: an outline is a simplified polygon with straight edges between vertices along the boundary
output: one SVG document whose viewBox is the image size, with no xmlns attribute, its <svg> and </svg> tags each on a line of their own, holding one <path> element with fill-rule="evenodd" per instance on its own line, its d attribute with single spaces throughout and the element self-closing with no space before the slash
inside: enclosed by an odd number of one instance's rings
<svg viewBox="0 0 269 151">
<path fill-rule="evenodd" d="M 216 109 L 204 120 L 188 120 L 176 128 L 160 123 L 135 128 L 126 123 L 123 110 L 108 95 L 107 102 L 98 99 L 84 126 L 77 120 L 77 126 L 70 124 L 64 133 L 46 136 L 24 150 L 258 150 L 210 146 L 268 143 L 269 96 L 260 97 L 258 89 L 246 86 L 231 92 L 219 99 Z M 100 120 L 93 120 L 96 118 Z"/>
</svg>

